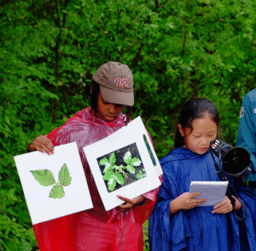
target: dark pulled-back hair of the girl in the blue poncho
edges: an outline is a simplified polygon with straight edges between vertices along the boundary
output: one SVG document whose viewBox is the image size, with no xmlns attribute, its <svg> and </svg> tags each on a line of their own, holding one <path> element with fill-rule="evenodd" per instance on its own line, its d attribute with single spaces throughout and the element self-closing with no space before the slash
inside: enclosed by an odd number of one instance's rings
<svg viewBox="0 0 256 251">
<path fill-rule="evenodd" d="M 191 128 L 193 120 L 196 118 L 203 118 L 205 116 L 212 117 L 212 120 L 219 124 L 218 111 L 216 106 L 212 101 L 205 98 L 193 98 L 187 101 L 182 110 L 180 111 L 178 123 L 182 126 L 183 129 Z M 174 148 L 183 146 L 185 144 L 182 134 L 180 134 L 179 129 L 177 128 L 175 139 L 174 139 Z"/>
</svg>

